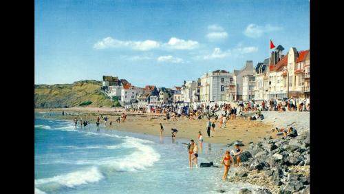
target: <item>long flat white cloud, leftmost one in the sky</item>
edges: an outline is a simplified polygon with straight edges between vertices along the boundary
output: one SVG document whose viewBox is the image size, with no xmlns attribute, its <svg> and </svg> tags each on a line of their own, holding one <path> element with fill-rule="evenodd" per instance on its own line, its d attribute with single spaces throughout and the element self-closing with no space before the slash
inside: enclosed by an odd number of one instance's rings
<svg viewBox="0 0 344 194">
<path fill-rule="evenodd" d="M 95 49 L 107 49 L 107 48 L 120 48 L 120 47 L 127 47 L 133 50 L 152 50 L 155 48 L 160 47 L 160 43 L 157 41 L 120 41 L 117 39 L 112 39 L 111 37 L 107 37 L 101 41 L 98 41 L 94 44 Z"/>
</svg>

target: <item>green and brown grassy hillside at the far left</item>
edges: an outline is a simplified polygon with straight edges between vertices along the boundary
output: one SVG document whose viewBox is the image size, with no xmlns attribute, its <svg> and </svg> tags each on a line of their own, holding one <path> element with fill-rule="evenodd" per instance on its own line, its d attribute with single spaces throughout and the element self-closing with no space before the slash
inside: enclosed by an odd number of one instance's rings
<svg viewBox="0 0 344 194">
<path fill-rule="evenodd" d="M 111 107 L 114 103 L 100 91 L 101 85 L 101 82 L 96 80 L 81 80 L 72 84 L 35 85 L 34 106 L 61 108 L 84 104 L 92 107 Z"/>
</svg>

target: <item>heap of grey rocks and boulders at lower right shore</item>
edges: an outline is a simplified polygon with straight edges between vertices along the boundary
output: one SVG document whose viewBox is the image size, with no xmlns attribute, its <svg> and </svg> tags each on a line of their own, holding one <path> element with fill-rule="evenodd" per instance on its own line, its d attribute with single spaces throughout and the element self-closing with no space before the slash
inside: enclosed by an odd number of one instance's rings
<svg viewBox="0 0 344 194">
<path fill-rule="evenodd" d="M 310 193 L 310 134 L 296 138 L 264 138 L 241 153 L 241 166 L 233 168 L 231 182 L 248 182 L 269 190 L 241 193 Z"/>
</svg>

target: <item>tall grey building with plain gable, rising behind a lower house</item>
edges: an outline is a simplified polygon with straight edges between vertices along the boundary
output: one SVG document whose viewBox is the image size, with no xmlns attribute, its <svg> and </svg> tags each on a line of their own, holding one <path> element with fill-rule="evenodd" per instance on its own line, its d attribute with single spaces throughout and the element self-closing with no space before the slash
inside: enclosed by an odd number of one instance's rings
<svg viewBox="0 0 344 194">
<path fill-rule="evenodd" d="M 234 70 L 236 90 L 237 90 L 237 100 L 243 100 L 243 76 L 252 75 L 255 73 L 252 61 L 246 61 L 246 65 L 240 70 Z"/>
</svg>

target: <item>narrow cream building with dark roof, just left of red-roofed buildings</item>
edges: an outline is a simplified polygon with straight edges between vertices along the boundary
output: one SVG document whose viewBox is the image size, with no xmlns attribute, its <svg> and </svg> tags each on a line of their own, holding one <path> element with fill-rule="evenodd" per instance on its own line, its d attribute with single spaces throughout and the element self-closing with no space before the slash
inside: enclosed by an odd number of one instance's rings
<svg viewBox="0 0 344 194">
<path fill-rule="evenodd" d="M 266 69 L 269 65 L 269 58 L 255 67 L 255 100 L 268 100 L 268 76 Z"/>
</svg>

